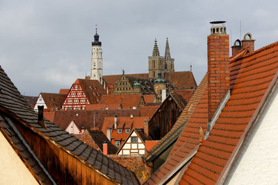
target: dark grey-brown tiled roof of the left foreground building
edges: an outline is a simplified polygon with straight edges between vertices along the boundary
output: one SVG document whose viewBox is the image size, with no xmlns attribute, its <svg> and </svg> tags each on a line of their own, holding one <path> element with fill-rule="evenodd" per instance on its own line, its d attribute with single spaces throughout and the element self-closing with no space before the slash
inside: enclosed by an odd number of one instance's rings
<svg viewBox="0 0 278 185">
<path fill-rule="evenodd" d="M 67 153 L 74 155 L 79 162 L 86 166 L 91 166 L 90 168 L 99 170 L 99 172 L 106 174 L 108 178 L 115 179 L 116 182 L 122 184 L 139 184 L 138 179 L 136 179 L 136 176 L 130 170 L 127 170 L 112 159 L 102 155 L 101 152 L 97 152 L 97 150 L 79 141 L 75 136 L 68 134 L 54 123 L 45 121 L 47 129 L 39 125 L 38 114 L 35 114 L 35 112 L 28 107 L 23 96 L 19 93 L 1 67 L 0 114 L 1 116 L 8 115 L 15 118 L 17 121 L 24 124 L 27 127 L 26 129 L 30 128 L 32 132 L 42 136 L 42 139 L 47 139 L 49 142 L 55 143 L 54 147 L 59 146 L 59 150 L 66 150 Z M 14 135 L 14 133 L 10 132 L 8 129 L 8 125 L 5 125 L 5 121 L 2 120 L 0 124 L 2 128 L 5 127 L 5 129 L 1 128 L 1 132 L 3 132 L 4 135 L 10 137 Z M 18 134 L 16 135 L 18 136 Z M 15 139 L 15 143 L 21 142 L 16 142 L 16 136 L 13 137 L 13 139 Z M 22 153 L 24 152 L 24 148 L 19 148 L 19 150 L 21 150 Z M 25 157 L 25 159 L 28 157 Z M 28 161 L 28 164 L 30 166 L 35 165 L 32 165 L 31 161 Z M 39 169 L 35 170 L 37 174 L 40 174 L 40 171 Z M 44 180 L 43 177 L 40 177 L 40 179 L 42 179 L 42 181 Z"/>
</svg>

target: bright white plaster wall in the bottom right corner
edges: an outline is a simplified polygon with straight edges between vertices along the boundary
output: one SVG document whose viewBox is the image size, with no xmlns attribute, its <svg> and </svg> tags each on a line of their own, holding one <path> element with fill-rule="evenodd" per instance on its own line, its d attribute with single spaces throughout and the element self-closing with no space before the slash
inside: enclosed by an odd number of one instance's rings
<svg viewBox="0 0 278 185">
<path fill-rule="evenodd" d="M 277 92 L 276 87 L 224 184 L 277 184 Z"/>
</svg>

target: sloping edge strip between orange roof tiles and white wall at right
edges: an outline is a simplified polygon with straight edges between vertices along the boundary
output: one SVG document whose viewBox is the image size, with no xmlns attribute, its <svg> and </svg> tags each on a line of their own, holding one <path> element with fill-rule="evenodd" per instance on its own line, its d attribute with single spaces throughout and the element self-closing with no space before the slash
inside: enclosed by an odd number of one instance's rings
<svg viewBox="0 0 278 185">
<path fill-rule="evenodd" d="M 229 158 L 229 161 L 227 162 L 226 166 L 222 170 L 222 173 L 220 174 L 220 177 L 218 178 L 218 181 L 216 184 L 223 184 L 227 175 L 229 174 L 231 170 L 231 166 L 233 166 L 235 159 L 238 157 L 238 153 L 240 149 L 244 146 L 245 142 L 249 138 L 250 133 L 252 132 L 254 126 L 258 122 L 259 118 L 261 117 L 261 113 L 265 109 L 265 106 L 268 104 L 273 92 L 277 90 L 277 84 L 278 84 L 278 71 L 276 72 L 274 78 L 270 82 L 270 85 L 268 86 L 268 89 L 265 91 L 265 94 L 263 95 L 263 98 L 261 99 L 261 102 L 258 107 L 256 107 L 256 111 L 254 112 L 251 120 L 249 121 L 245 132 L 240 137 L 240 140 L 238 141 L 238 144 L 236 145 L 235 150 L 231 154 L 231 157 Z"/>
</svg>

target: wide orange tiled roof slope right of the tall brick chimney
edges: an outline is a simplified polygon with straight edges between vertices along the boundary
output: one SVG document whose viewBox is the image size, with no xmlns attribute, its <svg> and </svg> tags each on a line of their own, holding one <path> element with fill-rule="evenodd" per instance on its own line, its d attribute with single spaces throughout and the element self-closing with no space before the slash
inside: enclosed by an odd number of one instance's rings
<svg viewBox="0 0 278 185">
<path fill-rule="evenodd" d="M 254 53 L 231 58 L 231 97 L 208 139 L 202 143 L 182 181 L 218 182 L 247 125 L 254 116 L 278 69 L 278 42 Z M 240 66 L 240 67 L 239 67 Z M 204 162 L 206 161 L 206 162 Z M 192 174 L 189 170 L 202 177 Z"/>
</svg>

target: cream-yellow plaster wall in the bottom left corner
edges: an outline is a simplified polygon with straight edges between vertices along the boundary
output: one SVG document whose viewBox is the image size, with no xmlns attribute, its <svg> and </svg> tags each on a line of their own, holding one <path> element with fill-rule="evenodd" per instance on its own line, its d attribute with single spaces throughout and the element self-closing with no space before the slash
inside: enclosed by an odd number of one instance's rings
<svg viewBox="0 0 278 185">
<path fill-rule="evenodd" d="M 38 184 L 0 132 L 0 184 Z"/>
</svg>

